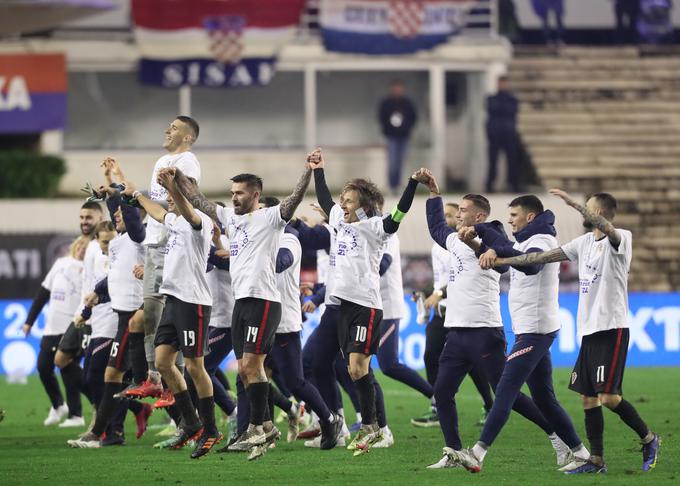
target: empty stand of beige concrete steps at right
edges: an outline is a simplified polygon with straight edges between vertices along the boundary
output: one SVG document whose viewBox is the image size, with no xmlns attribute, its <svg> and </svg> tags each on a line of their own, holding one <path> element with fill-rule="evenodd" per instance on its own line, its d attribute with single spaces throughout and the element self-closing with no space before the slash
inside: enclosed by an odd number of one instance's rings
<svg viewBox="0 0 680 486">
<path fill-rule="evenodd" d="M 680 58 L 672 49 L 520 47 L 510 82 L 546 187 L 609 191 L 630 228 L 631 289 L 680 287 Z"/>
</svg>

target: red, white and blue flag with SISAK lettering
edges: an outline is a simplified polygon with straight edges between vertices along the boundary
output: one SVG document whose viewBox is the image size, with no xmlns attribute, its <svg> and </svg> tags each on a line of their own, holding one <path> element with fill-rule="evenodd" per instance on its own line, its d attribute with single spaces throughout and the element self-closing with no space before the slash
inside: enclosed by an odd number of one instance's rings
<svg viewBox="0 0 680 486">
<path fill-rule="evenodd" d="M 133 0 L 143 83 L 267 84 L 305 0 Z"/>
</svg>

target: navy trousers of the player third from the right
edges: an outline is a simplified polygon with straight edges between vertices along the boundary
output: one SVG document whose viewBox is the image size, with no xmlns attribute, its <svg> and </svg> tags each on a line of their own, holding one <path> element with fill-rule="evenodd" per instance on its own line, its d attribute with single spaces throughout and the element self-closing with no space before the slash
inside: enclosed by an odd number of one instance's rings
<svg viewBox="0 0 680 486">
<path fill-rule="evenodd" d="M 505 346 L 505 334 L 501 327 L 454 327 L 447 334 L 434 385 L 439 424 L 447 447 L 455 450 L 462 448 L 455 397 L 465 375 L 472 367 L 479 366 L 486 373 L 491 388 L 495 390 L 505 366 Z M 512 408 L 541 427 L 546 434 L 553 432 L 536 404 L 523 393 L 519 393 Z"/>
</svg>

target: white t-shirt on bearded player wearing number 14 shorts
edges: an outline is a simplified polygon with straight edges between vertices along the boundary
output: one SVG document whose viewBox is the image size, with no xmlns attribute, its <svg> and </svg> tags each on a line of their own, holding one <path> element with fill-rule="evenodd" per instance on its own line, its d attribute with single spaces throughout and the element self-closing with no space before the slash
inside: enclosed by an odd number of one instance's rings
<svg viewBox="0 0 680 486">
<path fill-rule="evenodd" d="M 229 236 L 229 271 L 234 298 L 281 302 L 276 286 L 276 254 L 286 227 L 279 206 L 238 215 L 233 208 L 217 207 L 217 217 Z"/>
</svg>

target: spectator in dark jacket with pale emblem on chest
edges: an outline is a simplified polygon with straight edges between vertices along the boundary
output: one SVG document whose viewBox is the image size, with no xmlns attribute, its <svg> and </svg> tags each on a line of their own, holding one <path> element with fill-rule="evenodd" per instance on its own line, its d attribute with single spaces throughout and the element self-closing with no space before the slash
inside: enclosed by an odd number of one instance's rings
<svg viewBox="0 0 680 486">
<path fill-rule="evenodd" d="M 408 151 L 409 137 L 417 119 L 416 109 L 404 94 L 404 83 L 401 80 L 392 81 L 390 95 L 380 102 L 378 119 L 387 139 L 387 179 L 390 191 L 396 194 L 401 185 L 401 171 Z"/>
</svg>

